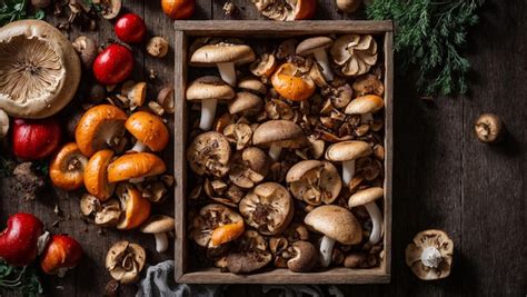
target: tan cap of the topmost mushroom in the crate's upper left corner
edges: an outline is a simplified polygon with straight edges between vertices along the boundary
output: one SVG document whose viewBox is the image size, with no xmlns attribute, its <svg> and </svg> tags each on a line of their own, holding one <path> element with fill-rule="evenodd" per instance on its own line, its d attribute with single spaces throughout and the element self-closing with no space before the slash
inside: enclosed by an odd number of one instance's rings
<svg viewBox="0 0 527 297">
<path fill-rule="evenodd" d="M 247 44 L 219 42 L 198 48 L 190 57 L 190 66 L 210 67 L 217 63 L 249 63 L 255 60 L 255 52 Z"/>
</svg>

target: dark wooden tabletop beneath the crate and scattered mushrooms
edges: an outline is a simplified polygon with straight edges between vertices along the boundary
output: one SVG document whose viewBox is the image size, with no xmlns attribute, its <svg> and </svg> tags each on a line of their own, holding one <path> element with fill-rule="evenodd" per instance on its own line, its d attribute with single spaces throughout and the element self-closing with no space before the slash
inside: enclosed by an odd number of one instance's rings
<svg viewBox="0 0 527 297">
<path fill-rule="evenodd" d="M 225 1 L 198 0 L 195 19 L 225 19 Z M 233 19 L 260 19 L 247 0 L 232 1 Z M 318 0 L 316 19 L 359 19 L 361 12 L 337 12 L 334 0 Z M 145 17 L 149 34 L 172 39 L 170 21 L 158 1 L 125 1 L 126 10 Z M 396 75 L 392 269 L 389 285 L 339 286 L 347 296 L 525 296 L 527 294 L 527 253 L 525 251 L 527 175 L 527 2 L 487 1 L 480 23 L 469 38 L 474 66 L 473 92 L 466 98 L 438 98 L 425 102 L 412 88 L 412 78 Z M 72 36 L 79 32 L 73 31 Z M 101 22 L 99 41 L 112 38 L 111 23 Z M 171 40 L 173 42 L 173 40 Z M 158 60 L 135 47 L 139 63 L 137 79 L 150 69 L 159 79 L 149 90 L 172 81 L 172 58 Z M 396 57 L 397 60 L 397 57 Z M 142 66 L 142 67 L 141 67 Z M 498 146 L 475 140 L 473 120 L 481 112 L 503 117 L 509 137 Z M 170 154 L 167 154 L 170 156 Z M 147 247 L 149 263 L 170 258 L 156 255 L 153 240 L 138 232 L 118 232 L 86 225 L 79 216 L 78 197 L 49 189 L 37 201 L 26 202 L 11 190 L 12 181 L 1 185 L 1 219 L 9 214 L 30 211 L 49 229 L 67 232 L 82 244 L 86 257 L 80 267 L 63 279 L 46 278 L 50 296 L 100 296 L 109 275 L 103 256 L 118 239 L 139 241 Z M 59 216 L 71 219 L 52 227 Z M 168 207 L 166 207 L 168 208 Z M 156 211 L 162 211 L 157 209 Z M 414 235 L 426 228 L 447 231 L 455 242 L 451 276 L 441 281 L 418 280 L 404 263 L 404 250 Z M 122 288 L 123 296 L 135 293 Z M 260 286 L 232 286 L 228 294 L 261 295 Z M 4 295 L 4 294 L 2 294 Z"/>
</svg>

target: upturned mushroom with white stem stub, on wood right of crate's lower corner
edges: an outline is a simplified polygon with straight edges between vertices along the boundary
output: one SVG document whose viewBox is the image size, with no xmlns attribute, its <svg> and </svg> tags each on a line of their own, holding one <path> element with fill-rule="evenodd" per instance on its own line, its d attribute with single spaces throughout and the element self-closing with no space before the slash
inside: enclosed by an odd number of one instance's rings
<svg viewBox="0 0 527 297">
<path fill-rule="evenodd" d="M 454 241 L 441 230 L 418 232 L 406 247 L 406 265 L 422 280 L 446 278 L 450 275 Z"/>
</svg>

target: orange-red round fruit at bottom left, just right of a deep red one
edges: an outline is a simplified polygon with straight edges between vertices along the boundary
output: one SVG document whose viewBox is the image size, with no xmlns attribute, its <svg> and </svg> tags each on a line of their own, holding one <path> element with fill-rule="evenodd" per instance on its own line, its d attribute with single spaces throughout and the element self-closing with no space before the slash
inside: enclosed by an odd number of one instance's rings
<svg viewBox="0 0 527 297">
<path fill-rule="evenodd" d="M 61 275 L 76 267 L 82 258 L 80 244 L 67 235 L 53 235 L 40 259 L 40 268 L 48 275 Z"/>
</svg>

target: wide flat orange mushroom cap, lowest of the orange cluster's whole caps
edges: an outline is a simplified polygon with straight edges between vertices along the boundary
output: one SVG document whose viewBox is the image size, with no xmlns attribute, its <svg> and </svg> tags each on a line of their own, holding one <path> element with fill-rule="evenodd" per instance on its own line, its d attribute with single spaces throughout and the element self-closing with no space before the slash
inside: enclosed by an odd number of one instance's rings
<svg viewBox="0 0 527 297">
<path fill-rule="evenodd" d="M 108 181 L 157 176 L 167 170 L 165 162 L 150 152 L 127 154 L 108 166 Z"/>
</svg>

